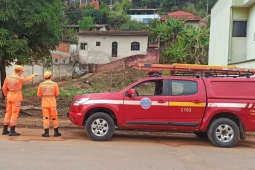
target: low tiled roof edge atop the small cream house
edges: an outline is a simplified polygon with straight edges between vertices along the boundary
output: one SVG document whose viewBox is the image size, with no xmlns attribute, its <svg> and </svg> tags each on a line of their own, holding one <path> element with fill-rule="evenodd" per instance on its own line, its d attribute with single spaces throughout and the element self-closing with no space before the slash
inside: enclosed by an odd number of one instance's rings
<svg viewBox="0 0 255 170">
<path fill-rule="evenodd" d="M 149 31 L 83 31 L 79 35 L 149 35 Z"/>
</svg>

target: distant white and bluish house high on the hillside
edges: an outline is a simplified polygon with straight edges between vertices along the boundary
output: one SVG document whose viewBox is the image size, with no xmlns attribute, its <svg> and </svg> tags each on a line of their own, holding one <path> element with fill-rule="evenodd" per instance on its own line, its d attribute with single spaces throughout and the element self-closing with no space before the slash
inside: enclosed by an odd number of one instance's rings
<svg viewBox="0 0 255 170">
<path fill-rule="evenodd" d="M 152 19 L 160 19 L 157 9 L 129 9 L 127 14 L 133 20 L 148 24 Z"/>
</svg>

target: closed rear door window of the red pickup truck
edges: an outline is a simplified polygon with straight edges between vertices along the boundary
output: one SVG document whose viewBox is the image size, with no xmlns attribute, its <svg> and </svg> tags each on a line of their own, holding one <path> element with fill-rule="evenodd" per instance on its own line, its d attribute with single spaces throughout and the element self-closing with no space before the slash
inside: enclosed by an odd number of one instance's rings
<svg viewBox="0 0 255 170">
<path fill-rule="evenodd" d="M 197 82 L 188 80 L 172 80 L 172 96 L 194 95 L 197 93 Z"/>
</svg>

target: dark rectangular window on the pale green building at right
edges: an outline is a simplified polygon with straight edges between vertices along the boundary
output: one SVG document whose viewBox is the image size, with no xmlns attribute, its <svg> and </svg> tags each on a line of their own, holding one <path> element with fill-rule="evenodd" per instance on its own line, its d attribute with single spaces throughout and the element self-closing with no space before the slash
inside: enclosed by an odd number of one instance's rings
<svg viewBox="0 0 255 170">
<path fill-rule="evenodd" d="M 246 37 L 247 21 L 233 21 L 232 37 Z"/>
</svg>

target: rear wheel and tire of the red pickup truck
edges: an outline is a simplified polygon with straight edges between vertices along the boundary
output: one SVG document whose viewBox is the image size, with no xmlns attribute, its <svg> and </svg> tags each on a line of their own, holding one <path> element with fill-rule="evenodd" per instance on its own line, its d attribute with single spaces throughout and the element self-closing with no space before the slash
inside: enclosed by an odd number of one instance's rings
<svg viewBox="0 0 255 170">
<path fill-rule="evenodd" d="M 230 148 L 238 142 L 240 131 L 232 120 L 218 118 L 210 124 L 207 136 L 215 146 Z"/>
</svg>

